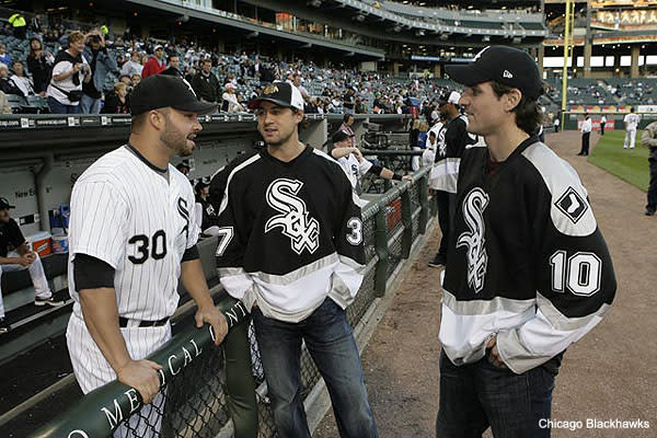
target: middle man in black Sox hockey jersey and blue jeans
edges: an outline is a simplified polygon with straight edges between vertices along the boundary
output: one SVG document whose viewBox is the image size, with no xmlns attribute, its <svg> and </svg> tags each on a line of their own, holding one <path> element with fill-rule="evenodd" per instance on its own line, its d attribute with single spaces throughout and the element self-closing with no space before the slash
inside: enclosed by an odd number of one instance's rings
<svg viewBox="0 0 657 438">
<path fill-rule="evenodd" d="M 345 309 L 365 263 L 360 208 L 341 166 L 299 141 L 303 99 L 286 82 L 249 103 L 267 148 L 217 173 L 221 284 L 251 310 L 279 437 L 310 437 L 301 342 L 331 395 L 341 436 L 377 437 Z"/>
</svg>

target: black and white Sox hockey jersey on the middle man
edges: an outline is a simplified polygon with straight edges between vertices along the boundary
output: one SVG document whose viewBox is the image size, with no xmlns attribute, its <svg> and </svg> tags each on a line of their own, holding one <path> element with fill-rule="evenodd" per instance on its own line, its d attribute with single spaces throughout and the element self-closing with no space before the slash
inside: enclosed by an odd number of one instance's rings
<svg viewBox="0 0 657 438">
<path fill-rule="evenodd" d="M 290 162 L 267 150 L 240 158 L 210 183 L 217 268 L 228 293 L 287 322 L 326 297 L 343 309 L 365 264 L 360 207 L 341 166 L 312 147 Z"/>
</svg>

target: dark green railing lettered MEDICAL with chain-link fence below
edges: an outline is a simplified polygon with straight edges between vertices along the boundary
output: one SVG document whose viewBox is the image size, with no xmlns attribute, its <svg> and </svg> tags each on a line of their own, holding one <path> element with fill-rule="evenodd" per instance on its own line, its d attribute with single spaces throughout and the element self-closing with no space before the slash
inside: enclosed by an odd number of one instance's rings
<svg viewBox="0 0 657 438">
<path fill-rule="evenodd" d="M 413 175 L 362 210 L 367 264 L 347 319 L 356 326 L 387 292 L 391 277 L 408 257 L 436 215 L 428 197 L 429 168 Z M 260 353 L 249 316 L 240 303 L 220 302 L 231 323 L 221 346 L 212 344 L 208 326 L 188 327 L 149 356 L 163 366 L 161 391 L 142 406 L 136 390 L 118 381 L 87 394 L 35 437 L 274 437 L 276 428 L 267 397 Z M 320 382 L 320 372 L 302 348 L 301 378 L 306 399 Z"/>
</svg>

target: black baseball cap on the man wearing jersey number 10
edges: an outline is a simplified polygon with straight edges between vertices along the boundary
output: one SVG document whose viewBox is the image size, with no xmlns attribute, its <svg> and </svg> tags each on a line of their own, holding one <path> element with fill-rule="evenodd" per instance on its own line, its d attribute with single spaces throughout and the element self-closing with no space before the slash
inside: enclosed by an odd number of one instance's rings
<svg viewBox="0 0 657 438">
<path fill-rule="evenodd" d="M 509 46 L 488 46 L 474 57 L 472 64 L 445 66 L 445 71 L 465 87 L 495 81 L 518 89 L 534 100 L 543 94 L 537 62 L 527 51 Z"/>
</svg>

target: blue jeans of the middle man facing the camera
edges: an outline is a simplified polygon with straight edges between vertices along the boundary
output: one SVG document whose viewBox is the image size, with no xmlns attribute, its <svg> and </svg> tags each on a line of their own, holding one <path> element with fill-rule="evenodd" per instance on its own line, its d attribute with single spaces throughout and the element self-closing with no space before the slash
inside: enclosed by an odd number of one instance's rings
<svg viewBox="0 0 657 438">
<path fill-rule="evenodd" d="M 278 437 L 310 438 L 301 399 L 301 341 L 326 382 L 341 437 L 378 437 L 358 348 L 339 306 L 326 298 L 298 323 L 266 318 L 257 308 L 252 315 Z"/>
</svg>

